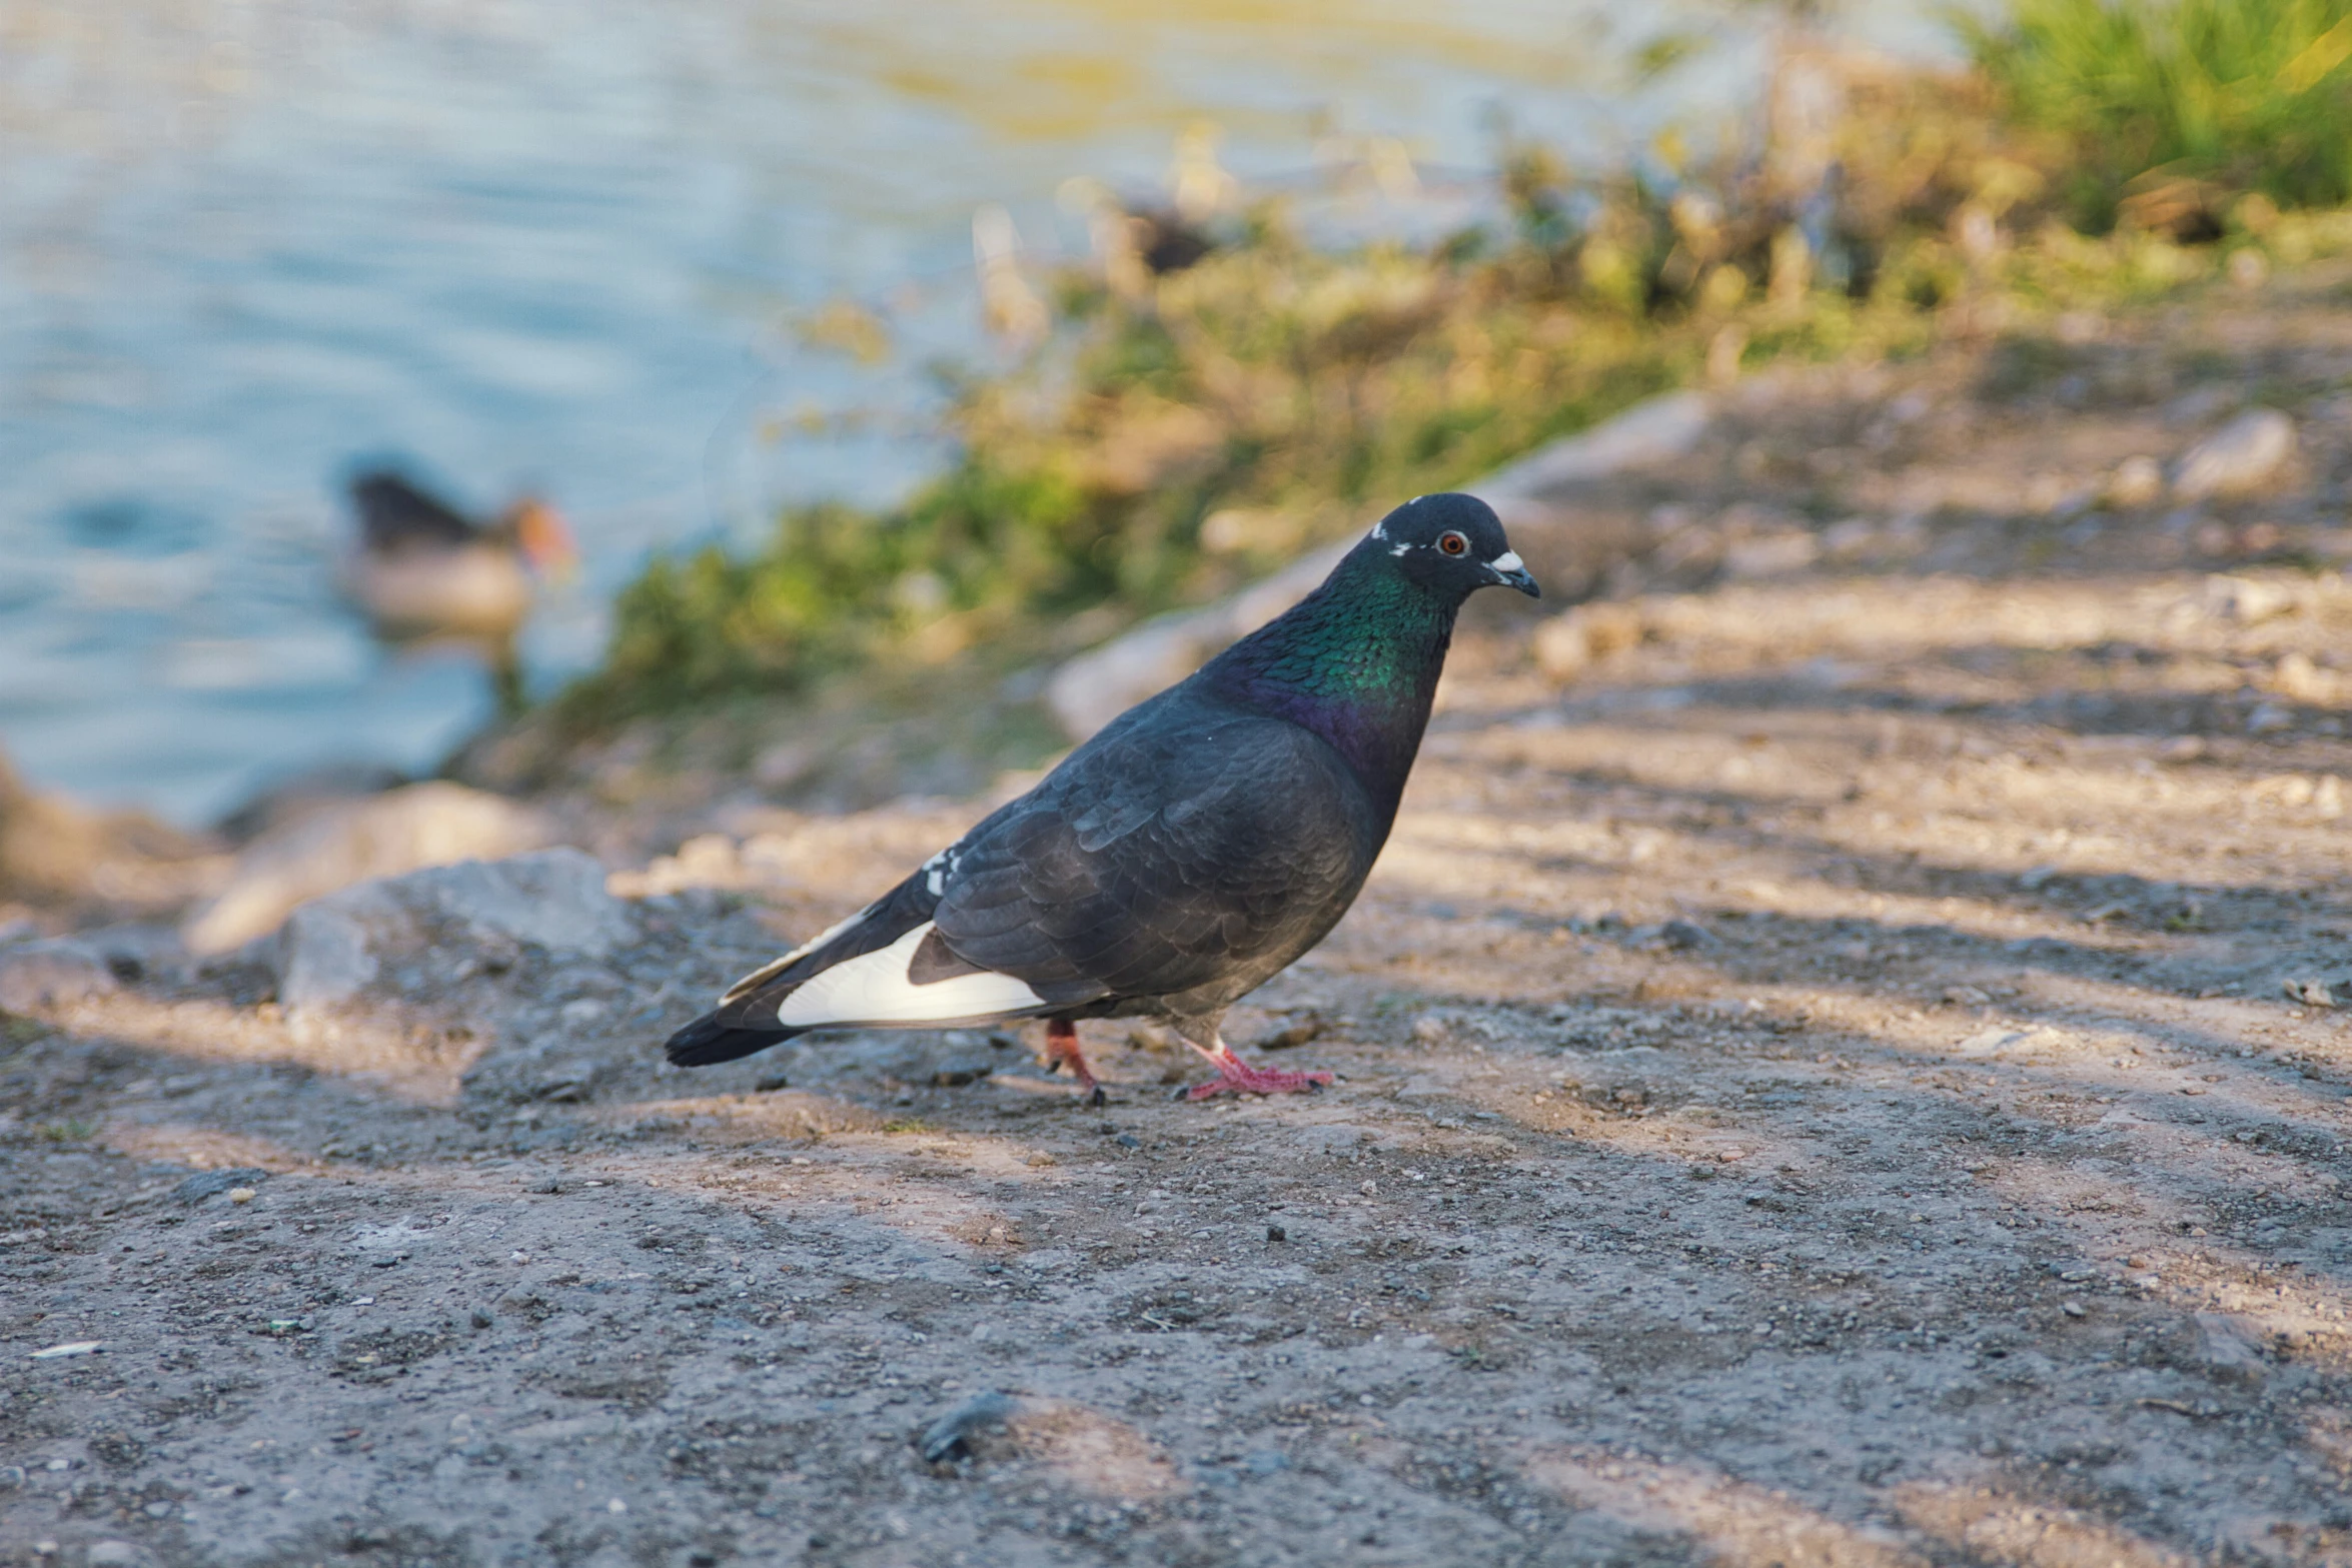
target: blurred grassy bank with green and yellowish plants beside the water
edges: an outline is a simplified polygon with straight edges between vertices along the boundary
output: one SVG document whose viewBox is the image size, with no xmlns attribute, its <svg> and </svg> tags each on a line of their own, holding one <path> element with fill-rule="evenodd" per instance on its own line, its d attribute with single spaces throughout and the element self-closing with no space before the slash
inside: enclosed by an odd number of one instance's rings
<svg viewBox="0 0 2352 1568">
<path fill-rule="evenodd" d="M 960 388 L 938 480 L 891 512 L 788 512 L 748 557 L 656 559 L 553 717 L 597 731 L 877 658 L 1035 661 L 1663 388 L 2338 249 L 2347 16 L 2013 0 L 1966 73 L 1792 49 L 1783 85 L 1828 87 L 1835 118 L 1776 92 L 1759 153 L 1668 141 L 1632 169 L 1505 148 L 1503 216 L 1418 249 L 1315 249 L 1272 197 L 1183 230 L 1110 214 L 1091 263 L 995 280 L 1033 346 Z"/>
</svg>

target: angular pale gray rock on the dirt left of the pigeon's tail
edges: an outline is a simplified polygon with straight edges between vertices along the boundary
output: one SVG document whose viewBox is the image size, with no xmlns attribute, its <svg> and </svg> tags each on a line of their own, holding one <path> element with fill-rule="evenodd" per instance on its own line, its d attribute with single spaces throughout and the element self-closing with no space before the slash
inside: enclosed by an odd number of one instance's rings
<svg viewBox="0 0 2352 1568">
<path fill-rule="evenodd" d="M 604 867 L 579 849 L 463 860 L 362 882 L 315 898 L 278 936 L 278 999 L 336 1006 L 376 983 L 386 961 L 473 945 L 510 961 L 517 943 L 602 957 L 635 936 L 604 891 Z"/>
</svg>

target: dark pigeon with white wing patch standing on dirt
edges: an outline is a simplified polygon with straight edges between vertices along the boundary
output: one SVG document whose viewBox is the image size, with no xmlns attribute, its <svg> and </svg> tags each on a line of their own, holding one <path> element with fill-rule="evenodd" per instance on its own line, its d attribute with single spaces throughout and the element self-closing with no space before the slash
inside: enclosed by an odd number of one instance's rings
<svg viewBox="0 0 2352 1568">
<path fill-rule="evenodd" d="M 1289 614 L 1103 726 L 1037 788 L 842 924 L 736 980 L 668 1041 L 703 1067 L 809 1030 L 1044 1018 L 1047 1067 L 1103 1091 L 1082 1018 L 1152 1018 L 1216 1070 L 1188 1091 L 1291 1093 L 1225 1009 L 1319 943 L 1388 842 L 1454 616 L 1538 597 L 1475 496 L 1383 517 Z"/>
</svg>

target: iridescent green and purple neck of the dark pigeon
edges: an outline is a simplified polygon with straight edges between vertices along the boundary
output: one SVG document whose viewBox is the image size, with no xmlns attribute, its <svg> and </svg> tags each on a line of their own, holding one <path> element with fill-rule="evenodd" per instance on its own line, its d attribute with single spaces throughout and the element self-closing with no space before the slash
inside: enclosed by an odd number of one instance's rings
<svg viewBox="0 0 2352 1568">
<path fill-rule="evenodd" d="M 1319 733 L 1395 811 L 1456 609 L 1359 545 L 1296 609 L 1225 649 L 1202 679 L 1228 701 Z"/>
</svg>

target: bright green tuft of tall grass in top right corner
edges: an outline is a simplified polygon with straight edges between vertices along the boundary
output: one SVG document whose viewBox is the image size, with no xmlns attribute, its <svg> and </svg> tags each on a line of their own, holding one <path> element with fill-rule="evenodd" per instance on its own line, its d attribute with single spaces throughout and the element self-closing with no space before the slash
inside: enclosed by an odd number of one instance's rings
<svg viewBox="0 0 2352 1568">
<path fill-rule="evenodd" d="M 1959 28 L 2006 110 L 2063 139 L 2077 223 L 2206 207 L 2171 181 L 2352 200 L 2352 0 L 2011 0 Z"/>
</svg>

